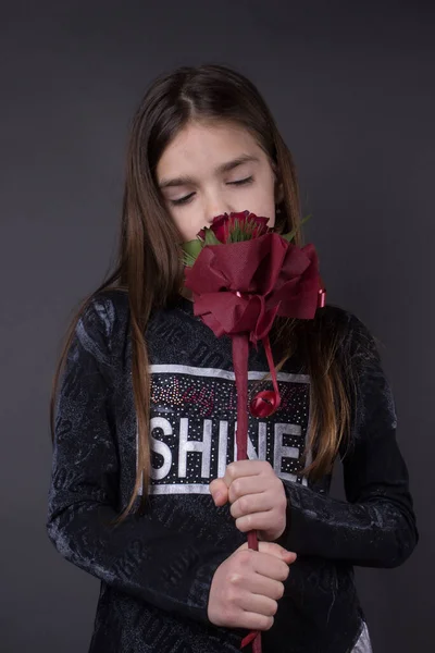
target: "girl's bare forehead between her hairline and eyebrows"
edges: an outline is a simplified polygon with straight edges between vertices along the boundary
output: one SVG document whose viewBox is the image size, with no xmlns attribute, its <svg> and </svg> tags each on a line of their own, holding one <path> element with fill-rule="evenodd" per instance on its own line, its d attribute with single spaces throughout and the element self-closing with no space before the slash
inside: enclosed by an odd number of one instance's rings
<svg viewBox="0 0 435 653">
<path fill-rule="evenodd" d="M 241 155 L 266 159 L 250 132 L 233 123 L 189 123 L 163 151 L 157 167 L 159 180 L 178 174 L 214 171 Z"/>
</svg>

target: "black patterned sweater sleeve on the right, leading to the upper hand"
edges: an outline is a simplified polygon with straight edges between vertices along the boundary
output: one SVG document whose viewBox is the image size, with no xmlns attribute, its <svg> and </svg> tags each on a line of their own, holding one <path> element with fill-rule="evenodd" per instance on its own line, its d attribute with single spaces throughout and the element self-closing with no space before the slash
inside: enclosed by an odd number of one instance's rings
<svg viewBox="0 0 435 653">
<path fill-rule="evenodd" d="M 350 446 L 340 452 L 346 501 L 283 481 L 288 500 L 284 542 L 302 555 L 396 567 L 419 539 L 408 470 L 396 441 L 394 398 L 375 341 L 355 316 L 349 326 L 348 361 L 357 394 Z"/>
</svg>

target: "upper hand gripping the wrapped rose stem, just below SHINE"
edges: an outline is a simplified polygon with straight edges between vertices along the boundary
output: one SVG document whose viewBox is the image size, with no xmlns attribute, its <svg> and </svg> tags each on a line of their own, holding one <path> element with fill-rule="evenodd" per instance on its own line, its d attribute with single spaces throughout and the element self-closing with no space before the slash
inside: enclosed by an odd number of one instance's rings
<svg viewBox="0 0 435 653">
<path fill-rule="evenodd" d="M 227 501 L 236 527 L 243 533 L 257 530 L 259 540 L 281 538 L 287 523 L 287 497 L 283 481 L 265 460 L 231 463 L 223 479 L 210 483 L 216 506 Z"/>
</svg>

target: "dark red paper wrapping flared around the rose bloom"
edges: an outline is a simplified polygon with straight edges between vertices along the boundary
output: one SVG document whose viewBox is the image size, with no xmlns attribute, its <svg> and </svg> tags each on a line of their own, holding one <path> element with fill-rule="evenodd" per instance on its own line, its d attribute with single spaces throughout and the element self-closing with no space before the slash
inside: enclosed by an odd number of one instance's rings
<svg viewBox="0 0 435 653">
<path fill-rule="evenodd" d="M 312 319 L 320 289 L 318 255 L 278 234 L 204 247 L 185 269 L 194 311 L 215 335 L 265 337 L 276 315 Z"/>
</svg>

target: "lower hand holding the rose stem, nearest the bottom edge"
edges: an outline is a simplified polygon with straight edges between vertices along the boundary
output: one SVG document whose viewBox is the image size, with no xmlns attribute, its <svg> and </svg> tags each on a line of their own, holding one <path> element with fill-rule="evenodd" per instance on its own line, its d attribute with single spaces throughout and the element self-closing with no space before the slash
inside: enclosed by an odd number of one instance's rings
<svg viewBox="0 0 435 653">
<path fill-rule="evenodd" d="M 259 551 L 243 544 L 215 570 L 208 616 L 215 626 L 269 630 L 284 594 L 284 581 L 296 554 L 279 544 L 260 542 Z"/>
</svg>

